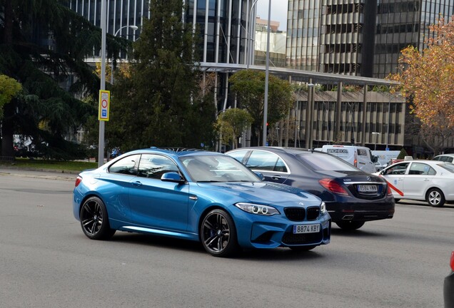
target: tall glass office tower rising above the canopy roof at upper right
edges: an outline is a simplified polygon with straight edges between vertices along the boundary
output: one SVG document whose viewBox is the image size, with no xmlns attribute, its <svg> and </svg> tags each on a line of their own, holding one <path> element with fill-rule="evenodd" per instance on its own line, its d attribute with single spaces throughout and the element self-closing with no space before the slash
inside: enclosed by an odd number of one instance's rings
<svg viewBox="0 0 454 308">
<path fill-rule="evenodd" d="M 423 49 L 428 26 L 454 14 L 454 0 L 289 0 L 286 66 L 385 78 L 400 50 Z"/>
</svg>

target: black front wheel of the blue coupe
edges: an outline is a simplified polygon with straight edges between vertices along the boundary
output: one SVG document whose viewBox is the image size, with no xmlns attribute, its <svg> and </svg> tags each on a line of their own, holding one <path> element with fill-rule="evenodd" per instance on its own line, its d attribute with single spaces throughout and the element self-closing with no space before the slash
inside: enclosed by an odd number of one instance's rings
<svg viewBox="0 0 454 308">
<path fill-rule="evenodd" d="M 231 257 L 238 252 L 235 223 L 225 210 L 212 210 L 203 217 L 200 237 L 203 248 L 214 257 Z"/>
</svg>

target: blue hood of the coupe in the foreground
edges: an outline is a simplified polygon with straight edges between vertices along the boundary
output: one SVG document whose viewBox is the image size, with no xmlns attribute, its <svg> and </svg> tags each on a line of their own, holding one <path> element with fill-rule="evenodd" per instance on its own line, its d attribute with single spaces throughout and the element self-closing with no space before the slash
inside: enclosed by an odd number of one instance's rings
<svg viewBox="0 0 454 308">
<path fill-rule="evenodd" d="M 321 199 L 299 188 L 288 185 L 256 183 L 197 183 L 203 190 L 213 190 L 216 195 L 226 193 L 236 195 L 243 202 L 273 204 L 282 206 L 320 205 Z M 301 204 L 303 203 L 303 204 Z"/>
</svg>

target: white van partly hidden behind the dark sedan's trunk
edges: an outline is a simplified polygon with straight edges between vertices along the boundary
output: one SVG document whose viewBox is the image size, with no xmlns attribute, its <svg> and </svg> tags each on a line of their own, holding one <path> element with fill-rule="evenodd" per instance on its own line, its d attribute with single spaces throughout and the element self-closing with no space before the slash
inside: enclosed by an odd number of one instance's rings
<svg viewBox="0 0 454 308">
<path fill-rule="evenodd" d="M 356 145 L 323 145 L 321 151 L 342 158 L 366 173 L 375 173 L 377 159 L 370 152 L 370 148 Z"/>
</svg>

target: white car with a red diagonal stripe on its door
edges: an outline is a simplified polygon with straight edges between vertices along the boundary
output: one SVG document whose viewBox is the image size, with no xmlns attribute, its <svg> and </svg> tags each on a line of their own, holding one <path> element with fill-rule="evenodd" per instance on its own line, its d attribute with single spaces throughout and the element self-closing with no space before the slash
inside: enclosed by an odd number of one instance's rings
<svg viewBox="0 0 454 308">
<path fill-rule="evenodd" d="M 454 201 L 454 164 L 437 160 L 404 160 L 374 173 L 389 184 L 396 201 L 425 200 L 433 207 Z"/>
</svg>

